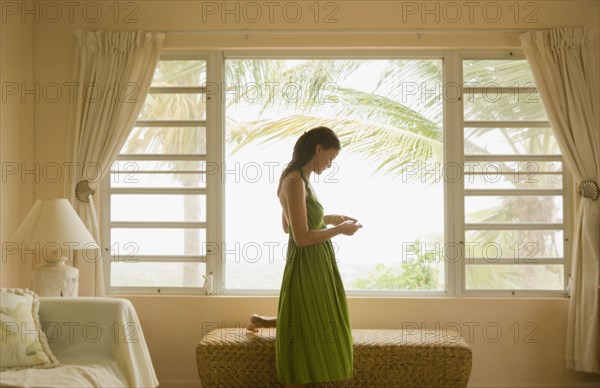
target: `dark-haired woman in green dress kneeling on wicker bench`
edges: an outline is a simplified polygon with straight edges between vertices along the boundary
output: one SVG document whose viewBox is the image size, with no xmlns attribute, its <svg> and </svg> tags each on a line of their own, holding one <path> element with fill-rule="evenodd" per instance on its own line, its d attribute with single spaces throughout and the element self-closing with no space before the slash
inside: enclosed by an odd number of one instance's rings
<svg viewBox="0 0 600 388">
<path fill-rule="evenodd" d="M 291 233 L 277 319 L 253 315 L 248 329 L 276 324 L 277 378 L 287 385 L 352 377 L 350 319 L 331 238 L 351 236 L 362 225 L 351 217 L 324 215 L 308 183 L 310 174 L 331 166 L 340 148 L 329 128 L 305 132 L 279 179 L 283 230 Z"/>
</svg>

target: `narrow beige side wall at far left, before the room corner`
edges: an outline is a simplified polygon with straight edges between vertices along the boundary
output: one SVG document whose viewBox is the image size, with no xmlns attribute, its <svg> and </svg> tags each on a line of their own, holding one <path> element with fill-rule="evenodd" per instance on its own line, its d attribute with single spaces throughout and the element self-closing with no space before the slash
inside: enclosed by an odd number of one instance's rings
<svg viewBox="0 0 600 388">
<path fill-rule="evenodd" d="M 2 16 L 0 16 L 2 17 Z M 0 285 L 30 287 L 31 261 L 7 245 L 33 205 L 34 183 L 34 23 L 0 23 Z M 23 87 L 25 86 L 25 87 Z M 25 174 L 24 174 L 25 173 Z"/>
</svg>

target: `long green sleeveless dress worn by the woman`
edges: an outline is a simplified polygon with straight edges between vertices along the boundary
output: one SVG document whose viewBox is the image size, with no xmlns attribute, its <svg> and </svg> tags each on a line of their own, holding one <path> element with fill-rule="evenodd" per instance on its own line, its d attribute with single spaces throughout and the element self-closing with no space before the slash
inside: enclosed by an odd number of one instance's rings
<svg viewBox="0 0 600 388">
<path fill-rule="evenodd" d="M 309 229 L 323 229 L 323 207 L 302 177 Z M 352 377 L 352 332 L 330 240 L 299 247 L 291 230 L 277 313 L 276 369 L 283 384 Z"/>
</svg>

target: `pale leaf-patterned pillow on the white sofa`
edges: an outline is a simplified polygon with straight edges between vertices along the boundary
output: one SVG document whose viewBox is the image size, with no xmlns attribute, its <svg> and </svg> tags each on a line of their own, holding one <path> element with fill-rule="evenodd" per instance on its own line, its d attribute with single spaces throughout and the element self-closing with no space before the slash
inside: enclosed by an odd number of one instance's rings
<svg viewBox="0 0 600 388">
<path fill-rule="evenodd" d="M 0 288 L 0 371 L 58 366 L 42 332 L 38 309 L 34 292 Z"/>
</svg>

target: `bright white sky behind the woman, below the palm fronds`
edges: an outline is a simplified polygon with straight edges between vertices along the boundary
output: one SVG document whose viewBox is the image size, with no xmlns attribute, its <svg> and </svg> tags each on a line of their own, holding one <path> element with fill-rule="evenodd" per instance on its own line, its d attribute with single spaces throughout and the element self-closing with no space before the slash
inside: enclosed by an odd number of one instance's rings
<svg viewBox="0 0 600 388">
<path fill-rule="evenodd" d="M 283 165 L 291 157 L 295 139 L 269 145 L 247 147 L 227 160 L 239 163 L 239 183 L 226 185 L 226 243 L 236 253 L 226 261 L 227 287 L 279 287 L 284 266 L 284 244 L 288 236 L 281 228 L 281 207 L 276 196 L 277 179 Z M 276 179 L 269 182 L 268 168 L 262 169 L 262 179 L 255 180 L 256 164 L 278 163 Z M 246 178 L 243 179 L 245 165 Z M 364 226 L 354 236 L 338 236 L 337 259 L 344 282 L 349 287 L 357 277 L 365 277 L 377 263 L 398 266 L 402 260 L 402 243 L 411 244 L 417 238 L 443 236 L 443 188 L 416 186 L 373 175 L 373 166 L 356 155 L 340 153 L 334 168 L 311 178 L 326 214 L 343 214 L 357 218 Z M 262 257 L 254 258 L 260 247 Z M 276 255 L 269 249 L 275 246 Z M 252 249 L 251 249 L 252 248 Z M 245 250 L 246 249 L 246 250 Z M 273 257 L 274 256 L 274 257 Z M 238 258 L 236 263 L 234 258 Z M 274 261 L 272 263 L 269 262 Z"/>
</svg>

